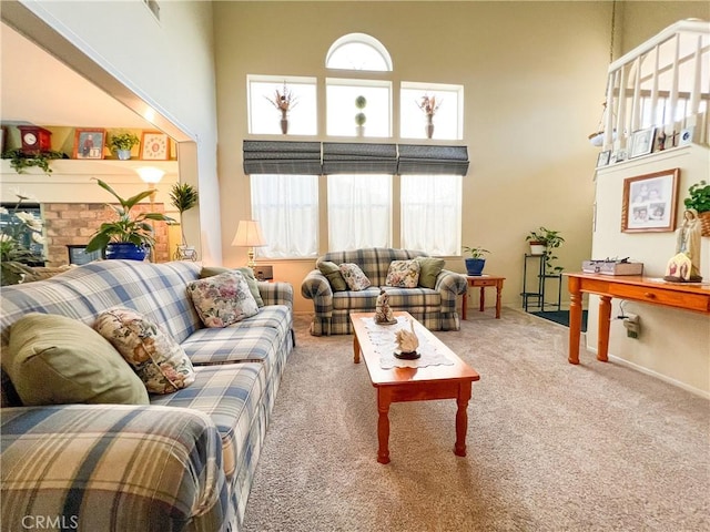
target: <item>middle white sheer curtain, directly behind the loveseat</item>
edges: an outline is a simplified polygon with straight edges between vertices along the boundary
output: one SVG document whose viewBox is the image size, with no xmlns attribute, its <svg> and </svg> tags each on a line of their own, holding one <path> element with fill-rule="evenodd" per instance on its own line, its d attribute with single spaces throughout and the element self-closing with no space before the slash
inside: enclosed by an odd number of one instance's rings
<svg viewBox="0 0 710 532">
<path fill-rule="evenodd" d="M 390 243 L 392 175 L 328 175 L 328 249 Z"/>
</svg>

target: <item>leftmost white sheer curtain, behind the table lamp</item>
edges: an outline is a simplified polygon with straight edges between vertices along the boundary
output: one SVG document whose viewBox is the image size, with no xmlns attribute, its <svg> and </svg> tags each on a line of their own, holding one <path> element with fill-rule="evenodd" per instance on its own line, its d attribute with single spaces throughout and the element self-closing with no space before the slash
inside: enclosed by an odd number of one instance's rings
<svg viewBox="0 0 710 532">
<path fill-rule="evenodd" d="M 318 176 L 252 175 L 252 216 L 265 247 L 256 256 L 315 257 L 318 250 Z"/>
</svg>

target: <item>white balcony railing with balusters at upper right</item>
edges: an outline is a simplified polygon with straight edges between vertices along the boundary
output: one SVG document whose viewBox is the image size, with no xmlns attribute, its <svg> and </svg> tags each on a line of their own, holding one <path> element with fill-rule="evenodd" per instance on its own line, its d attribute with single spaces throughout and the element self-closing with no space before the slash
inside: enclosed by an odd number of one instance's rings
<svg viewBox="0 0 710 532">
<path fill-rule="evenodd" d="M 681 132 L 708 144 L 709 101 L 710 22 L 681 20 L 609 65 L 602 150 L 630 150 L 649 127 L 653 151 L 677 146 Z"/>
</svg>

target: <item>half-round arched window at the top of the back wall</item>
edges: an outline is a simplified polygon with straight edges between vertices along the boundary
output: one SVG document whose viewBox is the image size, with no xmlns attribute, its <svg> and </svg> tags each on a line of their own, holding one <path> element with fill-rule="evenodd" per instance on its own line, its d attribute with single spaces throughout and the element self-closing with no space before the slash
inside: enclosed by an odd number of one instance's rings
<svg viewBox="0 0 710 532">
<path fill-rule="evenodd" d="M 348 33 L 337 39 L 325 57 L 325 66 L 339 70 L 392 72 L 387 49 L 366 33 Z"/>
</svg>

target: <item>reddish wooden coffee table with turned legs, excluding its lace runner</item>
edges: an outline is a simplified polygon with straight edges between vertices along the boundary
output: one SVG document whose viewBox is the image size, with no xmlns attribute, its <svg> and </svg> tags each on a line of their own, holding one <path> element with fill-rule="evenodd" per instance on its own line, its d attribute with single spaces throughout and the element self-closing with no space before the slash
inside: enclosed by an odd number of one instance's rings
<svg viewBox="0 0 710 532">
<path fill-rule="evenodd" d="M 395 317 L 412 318 L 409 313 L 394 313 Z M 456 443 L 454 454 L 466 456 L 466 429 L 468 415 L 466 409 L 470 399 L 471 382 L 480 376 L 464 362 L 458 356 L 434 336 L 426 327 L 414 320 L 415 332 L 419 341 L 426 338 L 454 362 L 453 366 L 427 366 L 424 368 L 392 368 L 382 369 L 379 354 L 371 341 L 362 318 L 372 318 L 374 313 L 353 313 L 351 320 L 355 334 L 353 335 L 354 362 L 359 364 L 361 352 L 365 359 L 369 380 L 377 389 L 377 461 L 389 463 L 389 405 L 402 401 L 428 401 L 433 399 L 456 399 Z M 394 334 L 394 332 L 393 332 Z"/>
</svg>

